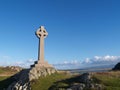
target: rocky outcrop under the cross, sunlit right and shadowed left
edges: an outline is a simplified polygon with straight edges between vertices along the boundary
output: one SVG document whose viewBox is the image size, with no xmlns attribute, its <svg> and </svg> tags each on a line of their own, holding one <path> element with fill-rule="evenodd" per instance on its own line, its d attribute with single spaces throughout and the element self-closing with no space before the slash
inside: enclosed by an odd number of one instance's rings
<svg viewBox="0 0 120 90">
<path fill-rule="evenodd" d="M 55 73 L 56 69 L 53 67 L 33 67 L 25 69 L 16 75 L 12 76 L 13 83 L 9 85 L 7 90 L 31 90 L 30 81 L 38 79 L 42 76 L 51 75 Z"/>
</svg>

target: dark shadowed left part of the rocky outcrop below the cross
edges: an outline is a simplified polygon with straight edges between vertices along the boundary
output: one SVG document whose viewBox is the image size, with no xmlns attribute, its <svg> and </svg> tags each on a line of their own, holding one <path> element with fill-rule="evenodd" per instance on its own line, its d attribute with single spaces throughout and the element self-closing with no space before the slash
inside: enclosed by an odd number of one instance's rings
<svg viewBox="0 0 120 90">
<path fill-rule="evenodd" d="M 13 83 L 9 85 L 7 90 L 30 90 L 29 69 L 22 70 L 12 76 Z"/>
</svg>

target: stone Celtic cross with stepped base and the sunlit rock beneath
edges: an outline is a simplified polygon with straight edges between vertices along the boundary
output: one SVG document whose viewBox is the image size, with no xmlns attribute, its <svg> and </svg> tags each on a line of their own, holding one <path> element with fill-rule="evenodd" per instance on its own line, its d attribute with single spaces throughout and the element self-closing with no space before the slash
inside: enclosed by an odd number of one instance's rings
<svg viewBox="0 0 120 90">
<path fill-rule="evenodd" d="M 34 65 L 31 65 L 29 72 L 29 80 L 38 79 L 40 76 L 50 75 L 55 73 L 57 70 L 44 59 L 44 39 L 48 33 L 43 26 L 36 31 L 36 35 L 39 39 L 38 46 L 38 60 L 35 61 Z"/>
</svg>

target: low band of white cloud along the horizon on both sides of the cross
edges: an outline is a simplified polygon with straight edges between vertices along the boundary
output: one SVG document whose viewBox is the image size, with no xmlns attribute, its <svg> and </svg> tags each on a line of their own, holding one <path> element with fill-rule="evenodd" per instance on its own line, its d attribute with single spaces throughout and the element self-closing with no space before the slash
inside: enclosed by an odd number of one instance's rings
<svg viewBox="0 0 120 90">
<path fill-rule="evenodd" d="M 26 61 L 17 60 L 10 62 L 8 57 L 4 57 L 6 60 L 0 61 L 0 66 L 21 66 L 29 68 L 30 65 L 34 64 L 34 59 L 28 59 Z M 3 59 L 3 58 L 2 58 Z M 57 69 L 81 69 L 92 66 L 103 66 L 103 65 L 115 65 L 120 62 L 120 56 L 94 56 L 93 58 L 86 58 L 84 60 L 66 60 L 53 64 Z"/>
</svg>

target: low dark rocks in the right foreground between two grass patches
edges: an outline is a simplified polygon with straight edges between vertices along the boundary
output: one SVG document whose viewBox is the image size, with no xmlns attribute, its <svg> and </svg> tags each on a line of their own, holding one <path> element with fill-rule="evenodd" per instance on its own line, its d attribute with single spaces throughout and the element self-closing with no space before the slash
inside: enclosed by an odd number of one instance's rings
<svg viewBox="0 0 120 90">
<path fill-rule="evenodd" d="M 67 88 L 67 90 L 103 90 L 103 86 L 101 84 L 93 83 L 91 76 L 92 74 L 90 73 L 82 74 L 79 77 L 79 83 L 72 84 L 70 88 Z"/>
</svg>

